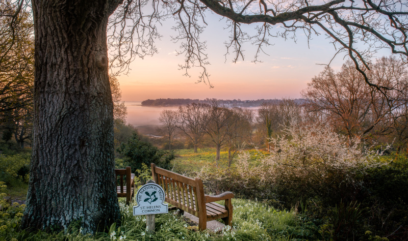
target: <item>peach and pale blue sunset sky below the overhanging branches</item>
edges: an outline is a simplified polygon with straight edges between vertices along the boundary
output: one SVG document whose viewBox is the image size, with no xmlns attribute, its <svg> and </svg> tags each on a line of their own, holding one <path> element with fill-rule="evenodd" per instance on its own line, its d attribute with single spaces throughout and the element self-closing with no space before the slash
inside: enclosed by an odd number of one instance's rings
<svg viewBox="0 0 408 241">
<path fill-rule="evenodd" d="M 174 55 L 179 44 L 171 42 L 170 36 L 175 32 L 170 30 L 171 22 L 167 21 L 160 27 L 163 38 L 157 41 L 159 53 L 135 59 L 130 67 L 131 72 L 127 76 L 118 77 L 122 100 L 300 98 L 300 91 L 323 70 L 324 67 L 318 64 L 328 64 L 336 52 L 324 35 L 314 36 L 308 46 L 307 38 L 302 32 L 298 32 L 297 43 L 291 39 L 285 41 L 283 38 L 270 37 L 270 42 L 274 45 L 265 48 L 269 56 L 261 55 L 263 63 L 251 63 L 256 49 L 246 43 L 245 60 L 234 64 L 232 55 L 225 61 L 224 42 L 228 40 L 228 30 L 223 29 L 225 21 L 220 19 L 218 15 L 208 14 L 209 25 L 202 36 L 202 40 L 207 41 L 210 62 L 207 69 L 214 88 L 205 83 L 196 83 L 199 69 L 192 70 L 190 78 L 183 76 L 184 72 L 178 69 L 178 64 L 183 63 L 184 57 Z M 243 27 L 253 29 L 254 25 Z M 343 57 L 344 54 L 336 57 L 331 67 L 340 69 L 345 62 Z"/>
</svg>

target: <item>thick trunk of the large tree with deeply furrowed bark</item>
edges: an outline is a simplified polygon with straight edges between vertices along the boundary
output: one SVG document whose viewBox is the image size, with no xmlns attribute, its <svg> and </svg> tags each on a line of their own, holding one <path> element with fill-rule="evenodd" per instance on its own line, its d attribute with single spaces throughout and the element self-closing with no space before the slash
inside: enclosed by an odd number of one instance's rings
<svg viewBox="0 0 408 241">
<path fill-rule="evenodd" d="M 119 218 L 106 29 L 118 1 L 33 0 L 33 155 L 22 227 Z"/>
</svg>

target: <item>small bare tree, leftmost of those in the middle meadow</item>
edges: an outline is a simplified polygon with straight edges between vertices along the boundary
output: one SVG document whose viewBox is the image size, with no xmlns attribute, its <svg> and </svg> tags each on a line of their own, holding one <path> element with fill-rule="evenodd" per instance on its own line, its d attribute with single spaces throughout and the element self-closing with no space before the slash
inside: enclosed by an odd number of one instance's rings
<svg viewBox="0 0 408 241">
<path fill-rule="evenodd" d="M 162 123 L 159 131 L 167 137 L 169 150 L 171 150 L 171 142 L 173 142 L 179 123 L 179 113 L 175 110 L 163 110 L 160 113 L 159 122 Z"/>
</svg>

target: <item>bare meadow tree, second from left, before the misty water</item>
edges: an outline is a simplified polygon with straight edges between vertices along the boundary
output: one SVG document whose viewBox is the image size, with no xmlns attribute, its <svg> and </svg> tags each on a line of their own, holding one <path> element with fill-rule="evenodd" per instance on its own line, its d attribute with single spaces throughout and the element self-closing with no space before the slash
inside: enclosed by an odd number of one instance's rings
<svg viewBox="0 0 408 241">
<path fill-rule="evenodd" d="M 177 127 L 190 139 L 194 145 L 194 153 L 197 153 L 197 147 L 200 144 L 206 130 L 207 111 L 206 104 L 192 103 L 185 107 L 179 107 L 179 125 Z"/>
</svg>

